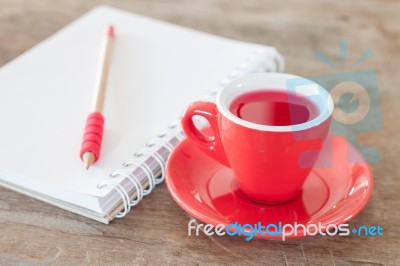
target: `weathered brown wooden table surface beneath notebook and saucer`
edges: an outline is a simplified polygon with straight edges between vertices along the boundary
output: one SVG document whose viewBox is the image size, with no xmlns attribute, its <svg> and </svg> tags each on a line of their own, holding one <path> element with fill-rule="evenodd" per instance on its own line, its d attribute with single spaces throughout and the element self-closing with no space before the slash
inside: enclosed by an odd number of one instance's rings
<svg viewBox="0 0 400 266">
<path fill-rule="evenodd" d="M 320 51 L 338 62 L 341 38 L 348 40 L 349 62 L 371 49 L 374 56 L 363 64 L 377 73 L 383 128 L 361 134 L 359 141 L 377 147 L 382 159 L 372 164 L 372 198 L 350 225 L 380 225 L 384 236 L 309 237 L 285 242 L 246 242 L 202 234 L 190 237 L 190 218 L 169 196 L 165 184 L 126 218 L 110 225 L 0 188 L 1 265 L 400 265 L 399 1 L 0 0 L 0 65 L 102 3 L 276 46 L 286 58 L 286 72 L 298 75 L 341 71 L 315 59 Z"/>
</svg>

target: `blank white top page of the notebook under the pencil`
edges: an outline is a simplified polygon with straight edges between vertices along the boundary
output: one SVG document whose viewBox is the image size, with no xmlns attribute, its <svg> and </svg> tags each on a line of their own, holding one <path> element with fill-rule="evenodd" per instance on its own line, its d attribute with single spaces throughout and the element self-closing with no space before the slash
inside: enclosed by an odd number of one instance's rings
<svg viewBox="0 0 400 266">
<path fill-rule="evenodd" d="M 108 24 L 103 147 L 87 171 L 79 150 Z M 0 174 L 103 196 L 98 183 L 259 47 L 96 8 L 0 70 Z"/>
</svg>

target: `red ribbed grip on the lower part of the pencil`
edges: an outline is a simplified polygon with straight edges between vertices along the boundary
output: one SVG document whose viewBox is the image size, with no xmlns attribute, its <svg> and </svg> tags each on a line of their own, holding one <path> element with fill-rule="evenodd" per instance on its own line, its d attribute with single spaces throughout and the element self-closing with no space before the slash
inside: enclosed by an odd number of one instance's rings
<svg viewBox="0 0 400 266">
<path fill-rule="evenodd" d="M 94 112 L 89 114 L 86 120 L 85 132 L 81 145 L 80 157 L 83 159 L 85 152 L 91 152 L 95 156 L 95 161 L 100 156 L 101 141 L 103 139 L 104 117 L 101 113 Z"/>
</svg>

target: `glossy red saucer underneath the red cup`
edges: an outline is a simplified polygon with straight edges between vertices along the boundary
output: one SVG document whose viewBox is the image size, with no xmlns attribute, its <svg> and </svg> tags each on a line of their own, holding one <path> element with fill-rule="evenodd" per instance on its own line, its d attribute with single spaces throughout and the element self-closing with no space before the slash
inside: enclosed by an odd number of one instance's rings
<svg viewBox="0 0 400 266">
<path fill-rule="evenodd" d="M 301 193 L 285 204 L 266 205 L 247 198 L 238 189 L 229 168 L 187 140 L 170 155 L 166 184 L 174 200 L 188 214 L 214 226 L 235 222 L 342 224 L 365 207 L 373 190 L 373 178 L 368 164 L 350 143 L 338 136 L 331 136 L 331 140 L 331 167 L 315 168 Z M 352 158 L 352 162 L 347 158 Z M 303 233 L 300 228 L 297 237 Z M 279 238 L 268 234 L 258 237 Z"/>
</svg>

